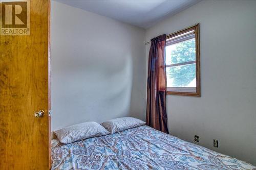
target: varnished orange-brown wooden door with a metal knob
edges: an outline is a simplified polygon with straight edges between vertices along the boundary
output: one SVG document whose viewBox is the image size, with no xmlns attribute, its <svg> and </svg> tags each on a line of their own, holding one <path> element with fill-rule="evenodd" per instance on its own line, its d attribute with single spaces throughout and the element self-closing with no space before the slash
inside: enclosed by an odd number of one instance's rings
<svg viewBox="0 0 256 170">
<path fill-rule="evenodd" d="M 1 2 L 4 6 L 6 1 Z M 27 16 L 30 17 L 29 35 L 0 35 L 1 170 L 49 169 L 50 164 L 50 1 L 27 2 L 30 3 L 27 9 L 30 9 Z M 22 8 L 17 5 L 5 10 L 17 10 L 14 16 L 20 17 Z M 15 16 L 8 22 L 12 19 L 18 20 Z M 23 24 L 16 20 L 14 24 Z M 45 115 L 35 117 L 35 112 L 40 109 L 45 111 Z"/>
</svg>

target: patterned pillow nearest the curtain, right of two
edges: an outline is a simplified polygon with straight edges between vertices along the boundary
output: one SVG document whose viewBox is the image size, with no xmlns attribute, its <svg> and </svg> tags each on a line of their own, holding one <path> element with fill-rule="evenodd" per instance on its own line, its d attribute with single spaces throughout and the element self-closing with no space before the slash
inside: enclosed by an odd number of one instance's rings
<svg viewBox="0 0 256 170">
<path fill-rule="evenodd" d="M 100 125 L 103 126 L 106 130 L 108 130 L 111 134 L 113 134 L 116 132 L 135 128 L 145 124 L 146 123 L 142 120 L 134 117 L 121 117 L 108 120 Z"/>
</svg>

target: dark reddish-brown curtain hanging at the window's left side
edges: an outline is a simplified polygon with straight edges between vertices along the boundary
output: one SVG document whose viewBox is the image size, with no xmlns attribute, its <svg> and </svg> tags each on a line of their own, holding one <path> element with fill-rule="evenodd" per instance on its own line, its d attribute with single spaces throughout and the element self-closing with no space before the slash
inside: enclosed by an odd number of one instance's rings
<svg viewBox="0 0 256 170">
<path fill-rule="evenodd" d="M 165 38 L 151 39 L 148 56 L 146 125 L 168 133 L 166 115 Z"/>
</svg>

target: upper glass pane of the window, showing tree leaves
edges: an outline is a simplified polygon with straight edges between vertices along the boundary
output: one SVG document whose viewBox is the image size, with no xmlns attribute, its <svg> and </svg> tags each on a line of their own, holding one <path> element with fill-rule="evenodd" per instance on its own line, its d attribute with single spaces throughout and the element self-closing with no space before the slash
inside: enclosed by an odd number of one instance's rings
<svg viewBox="0 0 256 170">
<path fill-rule="evenodd" d="M 165 47 L 165 63 L 177 64 L 196 60 L 196 41 L 195 38 L 179 42 Z"/>
</svg>

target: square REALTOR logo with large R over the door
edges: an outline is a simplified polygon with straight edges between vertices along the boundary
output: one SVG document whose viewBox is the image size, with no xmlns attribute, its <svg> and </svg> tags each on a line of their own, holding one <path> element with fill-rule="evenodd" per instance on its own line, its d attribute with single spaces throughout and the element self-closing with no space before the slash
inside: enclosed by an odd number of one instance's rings
<svg viewBox="0 0 256 170">
<path fill-rule="evenodd" d="M 1 0 L 1 35 L 30 34 L 30 0 Z"/>
</svg>

